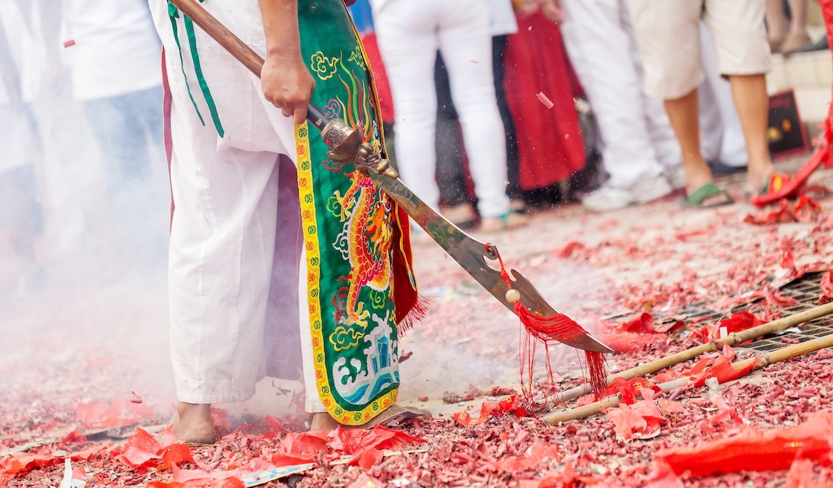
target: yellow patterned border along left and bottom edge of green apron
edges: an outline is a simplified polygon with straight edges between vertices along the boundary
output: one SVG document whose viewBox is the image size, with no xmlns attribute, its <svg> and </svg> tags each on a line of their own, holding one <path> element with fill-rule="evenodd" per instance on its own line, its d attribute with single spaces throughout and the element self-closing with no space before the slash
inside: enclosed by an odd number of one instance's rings
<svg viewBox="0 0 833 488">
<path fill-rule="evenodd" d="M 315 379 L 318 395 L 332 418 L 345 426 L 359 426 L 385 411 L 397 401 L 399 389 L 395 388 L 381 396 L 362 410 L 348 410 L 332 396 L 330 375 L 327 371 L 327 357 L 324 353 L 321 314 L 321 252 L 318 242 L 315 195 L 312 180 L 312 159 L 310 157 L 309 126 L 307 122 L 296 124 L 295 144 L 298 171 L 298 196 L 301 201 L 304 249 L 307 251 L 307 305 L 312 329 L 312 361 L 315 365 Z M 326 171 L 326 170 L 325 170 Z M 309 386 L 307 386 L 309 387 Z"/>
</svg>

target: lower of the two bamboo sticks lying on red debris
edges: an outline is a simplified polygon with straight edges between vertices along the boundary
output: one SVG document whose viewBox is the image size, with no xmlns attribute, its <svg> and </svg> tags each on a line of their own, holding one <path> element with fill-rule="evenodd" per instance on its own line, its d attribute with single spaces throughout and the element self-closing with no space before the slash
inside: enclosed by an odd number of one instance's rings
<svg viewBox="0 0 833 488">
<path fill-rule="evenodd" d="M 819 351 L 821 349 L 825 349 L 826 347 L 833 347 L 833 334 L 817 337 L 816 339 L 812 339 L 811 341 L 793 344 L 792 346 L 781 347 L 781 349 L 776 349 L 776 351 L 767 352 L 765 354 L 756 354 L 755 356 L 752 356 L 743 361 L 733 362 L 731 366 L 735 368 L 737 371 L 741 371 L 749 366 L 752 366 L 751 371 L 756 371 L 761 369 L 762 367 L 769 366 L 776 362 L 785 361 L 787 359 L 790 359 L 791 357 L 801 356 L 807 354 L 808 352 Z M 668 381 L 658 386 L 662 389 L 662 391 L 668 393 L 669 391 L 676 390 L 677 388 L 681 388 L 682 386 L 686 386 L 690 382 L 691 378 L 686 377 L 679 378 L 674 381 Z M 544 416 L 543 418 L 547 424 L 551 425 L 557 424 L 559 422 L 584 419 L 589 416 L 596 415 L 597 413 L 601 412 L 601 409 L 603 408 L 612 408 L 614 406 L 618 406 L 619 401 L 620 397 L 618 395 L 611 396 L 610 398 L 606 398 L 601 401 L 596 401 L 585 406 L 578 406 L 576 408 L 571 408 L 570 410 L 566 411 L 557 411 L 555 413 L 551 413 L 550 415 Z"/>
</svg>

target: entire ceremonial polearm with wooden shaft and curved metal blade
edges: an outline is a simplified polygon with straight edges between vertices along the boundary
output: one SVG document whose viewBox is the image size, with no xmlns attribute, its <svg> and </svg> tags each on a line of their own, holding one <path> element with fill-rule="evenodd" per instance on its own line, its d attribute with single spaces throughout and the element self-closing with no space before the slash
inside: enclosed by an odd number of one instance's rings
<svg viewBox="0 0 833 488">
<path fill-rule="evenodd" d="M 208 13 L 197 3 L 197 0 L 170 0 L 170 2 L 237 58 L 237 61 L 242 62 L 249 71 L 260 77 L 263 58 L 217 21 L 217 18 Z M 398 178 L 397 172 L 390 167 L 390 163 L 374 152 L 370 145 L 362 140 L 361 133 L 349 127 L 347 122 L 328 118 L 321 108 L 312 102 L 307 112 L 307 120 L 321 130 L 322 138 L 331 147 L 332 159 L 352 162 L 357 170 L 371 177 L 472 278 L 486 288 L 497 301 L 511 311 L 515 310 L 515 307 L 506 301 L 506 291 L 509 288 L 501 279 L 500 271 L 493 269 L 486 261 L 497 260 L 498 254 L 495 246 L 486 245 L 471 238 L 466 232 L 461 231 L 422 202 L 420 197 L 417 197 Z M 533 314 L 553 316 L 557 313 L 521 273 L 511 270 L 511 275 L 514 278 L 512 288 L 521 293 L 524 305 Z M 585 351 L 613 352 L 610 347 L 587 333 L 570 341 L 564 341 L 564 343 Z"/>
</svg>

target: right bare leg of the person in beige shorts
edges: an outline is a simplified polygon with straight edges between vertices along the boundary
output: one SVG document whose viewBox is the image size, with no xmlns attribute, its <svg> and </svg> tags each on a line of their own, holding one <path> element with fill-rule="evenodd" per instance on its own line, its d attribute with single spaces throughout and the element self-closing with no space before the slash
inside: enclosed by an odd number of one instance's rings
<svg viewBox="0 0 833 488">
<path fill-rule="evenodd" d="M 766 142 L 766 123 L 769 97 L 766 95 L 764 75 L 733 75 L 729 77 L 737 114 L 741 117 L 749 163 L 746 173 L 752 194 L 761 192 L 770 175 L 775 172 Z"/>
</svg>

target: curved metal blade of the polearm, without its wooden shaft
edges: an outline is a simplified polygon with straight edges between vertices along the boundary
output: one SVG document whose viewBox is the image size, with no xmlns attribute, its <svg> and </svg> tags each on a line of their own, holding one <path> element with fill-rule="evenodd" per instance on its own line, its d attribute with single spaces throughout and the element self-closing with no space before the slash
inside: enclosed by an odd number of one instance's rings
<svg viewBox="0 0 833 488">
<path fill-rule="evenodd" d="M 497 301 L 500 301 L 511 311 L 515 306 L 506 301 L 508 287 L 501 279 L 501 272 L 496 271 L 488 265 L 490 261 L 497 260 L 497 248 L 472 238 L 466 232 L 460 230 L 445 217 L 428 207 L 414 192 L 408 188 L 400 179 L 392 179 L 377 174 L 370 177 L 382 187 L 400 207 L 431 236 L 431 239 L 439 244 L 449 256 L 454 258 L 464 270 L 471 275 L 478 283 L 486 288 Z M 544 300 L 535 286 L 516 270 L 511 270 L 513 277 L 512 287 L 521 292 L 523 303 L 532 313 L 541 316 L 555 315 L 557 312 Z M 566 341 L 567 346 L 573 346 L 585 351 L 613 352 L 610 347 L 605 346 L 590 334 L 583 334 L 571 341 Z"/>
</svg>

